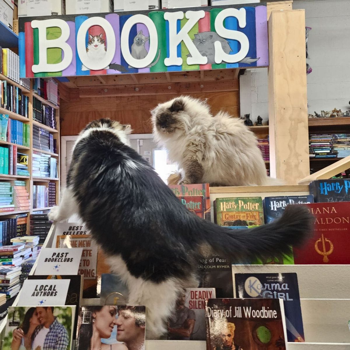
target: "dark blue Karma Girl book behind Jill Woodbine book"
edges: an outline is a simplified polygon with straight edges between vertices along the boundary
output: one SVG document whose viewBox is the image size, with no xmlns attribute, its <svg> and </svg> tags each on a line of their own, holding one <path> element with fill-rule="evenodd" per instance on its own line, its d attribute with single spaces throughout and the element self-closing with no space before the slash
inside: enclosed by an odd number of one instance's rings
<svg viewBox="0 0 350 350">
<path fill-rule="evenodd" d="M 296 273 L 235 273 L 236 297 L 282 299 L 288 342 L 304 342 Z"/>
</svg>

